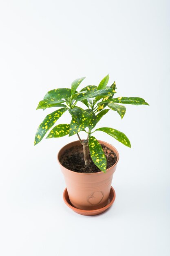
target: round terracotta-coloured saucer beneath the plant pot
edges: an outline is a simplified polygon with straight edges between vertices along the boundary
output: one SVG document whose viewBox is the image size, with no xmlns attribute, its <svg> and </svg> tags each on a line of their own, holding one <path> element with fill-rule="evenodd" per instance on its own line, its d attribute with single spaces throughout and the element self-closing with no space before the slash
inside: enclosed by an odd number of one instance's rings
<svg viewBox="0 0 170 256">
<path fill-rule="evenodd" d="M 81 209 L 77 209 L 77 208 L 73 207 L 71 205 L 71 202 L 70 202 L 69 197 L 68 197 L 67 188 L 65 188 L 64 192 L 63 192 L 63 199 L 64 199 L 65 204 L 68 207 L 70 207 L 73 211 L 75 211 L 76 213 L 86 215 L 86 216 L 92 216 L 92 215 L 97 215 L 97 214 L 103 213 L 104 211 L 106 211 L 113 204 L 113 202 L 115 201 L 115 197 L 116 197 L 115 190 L 111 186 L 110 195 L 109 195 L 108 203 L 106 204 L 106 206 L 102 207 L 100 209 L 97 209 L 97 210 L 90 210 L 89 211 L 89 210 L 81 210 Z"/>
</svg>

